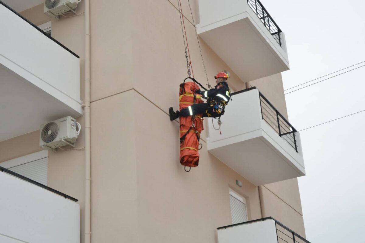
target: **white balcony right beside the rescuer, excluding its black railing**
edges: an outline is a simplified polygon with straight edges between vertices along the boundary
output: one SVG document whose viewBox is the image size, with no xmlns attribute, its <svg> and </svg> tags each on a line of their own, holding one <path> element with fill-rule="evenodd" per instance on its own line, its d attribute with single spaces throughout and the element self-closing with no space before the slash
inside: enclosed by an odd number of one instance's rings
<svg viewBox="0 0 365 243">
<path fill-rule="evenodd" d="M 262 119 L 257 89 L 232 99 L 221 118 L 222 135 L 208 122 L 208 151 L 254 185 L 304 176 L 299 132 L 296 152 Z"/>
</svg>

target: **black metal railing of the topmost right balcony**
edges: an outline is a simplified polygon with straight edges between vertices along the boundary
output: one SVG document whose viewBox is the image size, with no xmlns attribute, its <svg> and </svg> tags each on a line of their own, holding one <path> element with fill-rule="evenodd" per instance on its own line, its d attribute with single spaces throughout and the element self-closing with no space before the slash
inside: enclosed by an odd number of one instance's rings
<svg viewBox="0 0 365 243">
<path fill-rule="evenodd" d="M 282 34 L 280 28 L 277 26 L 273 18 L 270 16 L 269 12 L 266 11 L 264 5 L 261 4 L 259 0 L 247 0 L 247 4 L 256 13 L 264 26 L 269 30 L 270 34 L 281 46 L 282 44 Z"/>
</svg>

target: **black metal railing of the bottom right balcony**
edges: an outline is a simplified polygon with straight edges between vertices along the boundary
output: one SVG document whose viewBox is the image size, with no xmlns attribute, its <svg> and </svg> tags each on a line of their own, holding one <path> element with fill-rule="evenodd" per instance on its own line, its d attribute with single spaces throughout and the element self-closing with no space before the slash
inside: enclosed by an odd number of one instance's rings
<svg viewBox="0 0 365 243">
<path fill-rule="evenodd" d="M 298 235 L 296 232 L 292 231 L 288 227 L 286 227 L 284 224 L 278 222 L 273 217 L 265 217 L 262 219 L 255 219 L 243 223 L 238 224 L 231 224 L 227 226 L 218 227 L 217 230 L 222 230 L 230 227 L 240 226 L 244 224 L 251 224 L 255 222 L 260 222 L 264 220 L 272 219 L 275 221 L 275 228 L 276 228 L 276 236 L 277 236 L 277 242 L 278 243 L 310 243 L 308 240 L 304 239 L 302 236 Z"/>
</svg>

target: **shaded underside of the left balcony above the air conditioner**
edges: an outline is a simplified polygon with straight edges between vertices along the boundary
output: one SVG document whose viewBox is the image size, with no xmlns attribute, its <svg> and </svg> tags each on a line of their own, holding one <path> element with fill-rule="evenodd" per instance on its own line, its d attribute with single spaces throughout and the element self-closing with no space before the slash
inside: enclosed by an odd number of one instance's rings
<svg viewBox="0 0 365 243">
<path fill-rule="evenodd" d="M 60 117 L 78 117 L 82 112 L 79 103 L 66 105 L 1 64 L 0 87 L 0 141 L 33 132 Z"/>
</svg>

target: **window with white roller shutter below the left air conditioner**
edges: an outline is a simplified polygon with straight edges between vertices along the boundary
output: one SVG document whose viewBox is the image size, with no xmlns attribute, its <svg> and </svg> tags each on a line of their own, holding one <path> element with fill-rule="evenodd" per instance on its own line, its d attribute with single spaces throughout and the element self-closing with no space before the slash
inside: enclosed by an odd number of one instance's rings
<svg viewBox="0 0 365 243">
<path fill-rule="evenodd" d="M 47 150 L 2 162 L 0 163 L 0 166 L 43 185 L 47 185 Z"/>
</svg>

